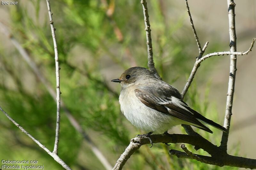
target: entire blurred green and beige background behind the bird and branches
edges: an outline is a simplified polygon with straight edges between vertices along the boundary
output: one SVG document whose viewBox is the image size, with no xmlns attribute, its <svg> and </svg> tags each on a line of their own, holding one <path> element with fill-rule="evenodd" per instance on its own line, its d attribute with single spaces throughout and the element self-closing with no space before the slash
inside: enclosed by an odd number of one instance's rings
<svg viewBox="0 0 256 170">
<path fill-rule="evenodd" d="M 229 50 L 226 1 L 189 1 L 201 46 L 205 52 Z M 199 5 L 200 4 L 200 5 Z M 236 2 L 237 50 L 246 51 L 255 36 L 255 1 Z M 114 166 L 136 134 L 122 115 L 118 103 L 120 85 L 112 84 L 131 66 L 147 67 L 146 33 L 140 1 L 51 1 L 60 61 L 61 102 L 71 111 L 98 149 Z M 149 20 L 156 69 L 163 80 L 182 91 L 194 65 L 198 48 L 185 2 L 148 0 Z M 36 63 L 42 76 L 55 88 L 55 61 L 46 2 L 18 1 L 0 5 L 0 21 L 11 36 L 0 35 L 0 106 L 32 136 L 53 150 L 56 104 L 45 84 L 13 46 L 17 40 Z M 256 158 L 255 52 L 238 57 L 236 92 L 228 153 Z M 254 56 L 254 57 L 253 57 Z M 216 56 L 203 62 L 185 101 L 207 118 L 223 124 L 229 57 Z M 221 132 L 208 134 L 195 129 L 216 145 Z M 169 133 L 185 133 L 181 126 Z M 52 157 L 0 113 L 0 159 L 38 160 L 45 169 L 62 169 Z M 207 155 L 202 150 L 193 153 Z M 170 156 L 180 144 L 142 146 L 124 169 L 237 169 L 206 165 Z M 61 110 L 59 156 L 72 169 L 105 169 Z M 2 164 L 1 164 L 2 165 Z"/>
</svg>

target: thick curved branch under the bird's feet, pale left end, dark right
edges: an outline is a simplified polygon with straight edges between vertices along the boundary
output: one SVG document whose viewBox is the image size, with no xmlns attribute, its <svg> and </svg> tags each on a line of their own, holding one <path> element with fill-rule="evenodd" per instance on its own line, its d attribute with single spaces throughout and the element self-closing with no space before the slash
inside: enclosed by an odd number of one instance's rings
<svg viewBox="0 0 256 170">
<path fill-rule="evenodd" d="M 249 158 L 243 158 L 243 157 L 237 157 L 228 155 L 226 152 L 223 152 L 223 150 L 220 147 L 217 147 L 216 145 L 209 142 L 207 139 L 201 137 L 201 136 L 191 136 L 191 135 L 184 135 L 184 134 L 158 134 L 158 135 L 150 135 L 153 143 L 187 143 L 195 146 L 196 148 L 201 148 L 204 151 L 208 152 L 212 157 L 203 156 L 203 155 L 196 155 L 196 160 L 205 161 L 204 163 L 217 165 L 217 166 L 235 166 L 235 167 L 244 167 L 244 168 L 256 168 L 256 159 L 249 159 Z M 121 157 L 116 162 L 116 165 L 114 168 L 116 169 L 122 169 L 127 159 L 130 158 L 130 156 L 137 151 L 142 145 L 144 144 L 150 144 L 150 141 L 148 137 L 135 137 L 131 140 L 129 146 L 126 148 L 125 152 L 121 155 Z M 170 151 L 171 153 L 174 153 L 177 156 L 177 152 L 174 150 Z M 176 153 L 175 153 L 176 152 Z M 189 156 L 187 153 L 181 152 L 180 154 L 181 158 L 189 158 L 194 159 L 195 157 Z"/>
</svg>

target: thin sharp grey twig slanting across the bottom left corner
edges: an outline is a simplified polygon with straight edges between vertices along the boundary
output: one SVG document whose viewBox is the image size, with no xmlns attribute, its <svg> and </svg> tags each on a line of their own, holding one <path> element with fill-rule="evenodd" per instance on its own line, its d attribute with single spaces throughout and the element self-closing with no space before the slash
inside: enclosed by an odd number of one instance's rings
<svg viewBox="0 0 256 170">
<path fill-rule="evenodd" d="M 26 135 L 28 135 L 28 137 L 30 137 L 36 144 L 38 144 L 38 146 L 40 146 L 41 148 L 44 149 L 45 152 L 47 152 L 56 162 L 58 162 L 63 168 L 67 169 L 67 170 L 71 170 L 70 167 L 62 160 L 60 159 L 60 157 L 51 152 L 49 149 L 47 149 L 43 144 L 41 144 L 38 140 L 36 140 L 33 136 L 31 136 L 25 129 L 23 129 L 17 122 L 15 122 L 10 115 L 8 115 L 1 107 L 0 110 L 4 113 L 4 115 L 10 120 L 12 121 L 12 123 L 17 126 L 23 133 L 25 133 Z"/>
</svg>

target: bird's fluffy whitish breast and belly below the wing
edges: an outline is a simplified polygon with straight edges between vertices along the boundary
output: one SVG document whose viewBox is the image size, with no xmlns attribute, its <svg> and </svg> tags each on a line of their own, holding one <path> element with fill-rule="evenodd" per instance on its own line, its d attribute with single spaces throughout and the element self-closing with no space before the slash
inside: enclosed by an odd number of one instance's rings
<svg viewBox="0 0 256 170">
<path fill-rule="evenodd" d="M 182 121 L 144 105 L 135 95 L 132 86 L 124 88 L 119 96 L 121 111 L 135 126 L 148 132 L 163 133 Z"/>
</svg>

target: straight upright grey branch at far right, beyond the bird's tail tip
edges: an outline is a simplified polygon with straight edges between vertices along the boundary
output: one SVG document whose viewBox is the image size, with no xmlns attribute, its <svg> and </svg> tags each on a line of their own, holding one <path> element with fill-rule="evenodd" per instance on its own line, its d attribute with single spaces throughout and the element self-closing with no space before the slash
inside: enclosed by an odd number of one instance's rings
<svg viewBox="0 0 256 170">
<path fill-rule="evenodd" d="M 229 22 L 229 37 L 230 37 L 230 51 L 236 52 L 236 24 L 235 24 L 235 6 L 234 0 L 227 0 L 228 2 L 228 22 Z M 224 128 L 227 129 L 227 133 L 222 133 L 220 142 L 220 148 L 227 152 L 228 147 L 228 134 L 230 128 L 230 121 L 232 115 L 233 97 L 235 92 L 235 80 L 236 80 L 236 54 L 230 55 L 230 74 L 228 79 L 228 93 L 227 104 L 224 118 Z"/>
</svg>

